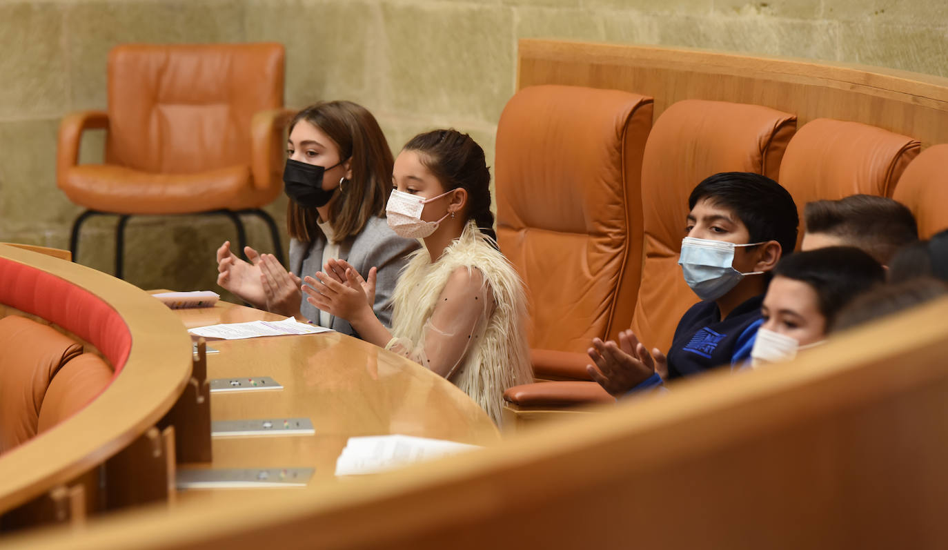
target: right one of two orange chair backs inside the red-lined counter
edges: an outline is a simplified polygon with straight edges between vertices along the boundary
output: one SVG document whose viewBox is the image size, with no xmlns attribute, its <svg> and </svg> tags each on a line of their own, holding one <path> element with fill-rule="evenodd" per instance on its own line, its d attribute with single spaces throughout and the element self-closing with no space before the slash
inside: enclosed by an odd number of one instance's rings
<svg viewBox="0 0 948 550">
<path fill-rule="evenodd" d="M 53 376 L 40 406 L 36 432 L 43 433 L 91 403 L 112 382 L 112 369 L 95 354 L 69 359 Z"/>
</svg>

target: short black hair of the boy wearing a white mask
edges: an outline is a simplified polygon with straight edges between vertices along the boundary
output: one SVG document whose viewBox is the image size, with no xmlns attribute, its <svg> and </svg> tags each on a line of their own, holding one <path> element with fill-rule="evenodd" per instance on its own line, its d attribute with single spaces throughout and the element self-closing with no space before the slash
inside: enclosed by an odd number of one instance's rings
<svg viewBox="0 0 948 550">
<path fill-rule="evenodd" d="M 774 276 L 810 285 L 829 327 L 848 302 L 884 283 L 885 270 L 860 248 L 826 247 L 781 259 Z"/>
</svg>

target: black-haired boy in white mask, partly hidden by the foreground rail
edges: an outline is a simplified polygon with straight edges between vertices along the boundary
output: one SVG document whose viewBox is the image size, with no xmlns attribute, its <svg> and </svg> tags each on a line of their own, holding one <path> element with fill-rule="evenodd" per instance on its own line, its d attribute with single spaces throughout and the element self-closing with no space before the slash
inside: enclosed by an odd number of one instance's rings
<svg viewBox="0 0 948 550">
<path fill-rule="evenodd" d="M 885 270 L 856 247 L 796 252 L 780 260 L 760 308 L 751 364 L 789 361 L 819 344 L 853 298 L 883 284 Z"/>
</svg>

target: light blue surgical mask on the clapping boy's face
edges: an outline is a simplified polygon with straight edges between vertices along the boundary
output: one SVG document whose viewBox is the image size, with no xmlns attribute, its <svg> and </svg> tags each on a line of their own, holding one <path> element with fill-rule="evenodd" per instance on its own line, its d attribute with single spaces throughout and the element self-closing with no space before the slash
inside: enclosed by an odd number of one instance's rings
<svg viewBox="0 0 948 550">
<path fill-rule="evenodd" d="M 702 300 L 718 300 L 734 288 L 745 275 L 759 275 L 763 271 L 741 273 L 734 268 L 735 247 L 754 247 L 763 243 L 735 245 L 725 241 L 684 237 L 678 265 L 682 266 L 684 282 Z"/>
</svg>

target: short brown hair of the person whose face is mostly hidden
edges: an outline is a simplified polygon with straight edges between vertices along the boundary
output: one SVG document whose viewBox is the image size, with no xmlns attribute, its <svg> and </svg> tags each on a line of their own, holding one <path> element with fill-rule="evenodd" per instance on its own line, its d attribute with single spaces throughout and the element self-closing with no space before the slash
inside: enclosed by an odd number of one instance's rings
<svg viewBox="0 0 948 550">
<path fill-rule="evenodd" d="M 887 265 L 896 250 L 919 240 L 912 211 L 902 203 L 871 194 L 807 203 L 803 217 L 810 233 L 826 233 L 860 247 Z"/>
</svg>

